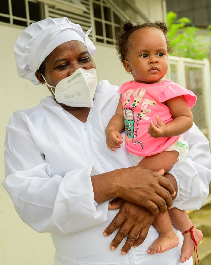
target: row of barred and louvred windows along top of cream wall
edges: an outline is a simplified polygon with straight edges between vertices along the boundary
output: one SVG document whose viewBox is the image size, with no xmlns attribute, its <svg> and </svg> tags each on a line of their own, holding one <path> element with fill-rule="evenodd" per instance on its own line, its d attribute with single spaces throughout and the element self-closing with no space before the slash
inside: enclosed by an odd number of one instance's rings
<svg viewBox="0 0 211 265">
<path fill-rule="evenodd" d="M 89 37 L 93 42 L 113 45 L 115 34 L 129 20 L 128 10 L 133 17 L 142 16 L 126 0 L 1 0 L 0 22 L 27 27 L 46 17 L 66 16 L 84 32 L 92 27 Z"/>
</svg>

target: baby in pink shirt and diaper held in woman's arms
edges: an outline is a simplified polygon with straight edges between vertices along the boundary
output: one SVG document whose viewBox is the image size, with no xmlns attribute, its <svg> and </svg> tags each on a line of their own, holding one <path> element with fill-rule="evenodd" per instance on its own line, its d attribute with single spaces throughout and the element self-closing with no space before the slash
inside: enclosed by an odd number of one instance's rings
<svg viewBox="0 0 211 265">
<path fill-rule="evenodd" d="M 167 173 L 178 161 L 185 159 L 189 147 L 180 137 L 193 124 L 191 107 L 196 96 L 171 80 L 163 80 L 168 70 L 167 26 L 162 22 L 137 25 L 126 21 L 117 34 L 117 51 L 133 81 L 120 88 L 115 115 L 106 127 L 106 143 L 115 151 L 123 142 L 125 130 L 128 152 L 136 164 Z M 148 254 L 163 253 L 178 245 L 173 227 L 183 233 L 180 262 L 188 260 L 203 235 L 196 229 L 186 211 L 173 208 L 158 214 L 153 222 L 159 237 Z"/>
</svg>

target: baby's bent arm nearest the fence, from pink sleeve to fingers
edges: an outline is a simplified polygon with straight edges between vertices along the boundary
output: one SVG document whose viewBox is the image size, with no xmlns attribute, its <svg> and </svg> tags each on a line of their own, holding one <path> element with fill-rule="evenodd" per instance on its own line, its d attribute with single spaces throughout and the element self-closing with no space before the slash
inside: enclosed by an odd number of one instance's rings
<svg viewBox="0 0 211 265">
<path fill-rule="evenodd" d="M 174 97 L 166 101 L 173 121 L 164 124 L 156 116 L 157 124 L 150 122 L 148 132 L 152 137 L 172 137 L 189 130 L 193 125 L 193 115 L 184 96 Z"/>
</svg>

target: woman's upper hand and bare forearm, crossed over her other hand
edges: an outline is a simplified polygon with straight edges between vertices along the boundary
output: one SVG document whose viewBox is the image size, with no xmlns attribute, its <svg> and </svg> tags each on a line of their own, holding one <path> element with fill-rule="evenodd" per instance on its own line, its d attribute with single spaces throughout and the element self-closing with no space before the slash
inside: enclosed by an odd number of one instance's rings
<svg viewBox="0 0 211 265">
<path fill-rule="evenodd" d="M 172 207 L 175 190 L 171 182 L 141 166 L 121 168 L 91 178 L 97 203 L 120 197 L 145 207 L 153 215 L 164 214 Z"/>
</svg>

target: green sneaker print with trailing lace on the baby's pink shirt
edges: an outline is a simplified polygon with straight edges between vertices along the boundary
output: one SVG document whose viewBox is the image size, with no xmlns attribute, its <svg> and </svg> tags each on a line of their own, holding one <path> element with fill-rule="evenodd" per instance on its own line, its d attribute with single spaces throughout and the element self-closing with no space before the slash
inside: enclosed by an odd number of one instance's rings
<svg viewBox="0 0 211 265">
<path fill-rule="evenodd" d="M 128 138 L 132 139 L 132 142 L 136 145 L 138 143 L 141 144 L 141 148 L 143 149 L 143 143 L 141 141 L 137 141 L 135 142 L 135 133 L 134 133 L 134 111 L 131 109 L 124 109 L 123 110 L 123 114 L 124 114 L 124 126 L 125 126 L 125 133 L 127 135 Z"/>
</svg>

